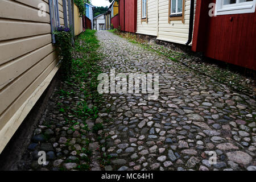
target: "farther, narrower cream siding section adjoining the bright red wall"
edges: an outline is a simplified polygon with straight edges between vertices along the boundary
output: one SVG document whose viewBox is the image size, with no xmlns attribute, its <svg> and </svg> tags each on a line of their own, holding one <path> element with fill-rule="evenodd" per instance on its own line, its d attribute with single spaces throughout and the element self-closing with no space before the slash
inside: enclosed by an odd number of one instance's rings
<svg viewBox="0 0 256 182">
<path fill-rule="evenodd" d="M 142 0 L 137 1 L 137 33 L 157 36 L 157 1 L 147 1 L 147 22 L 141 21 L 141 1 Z"/>
</svg>

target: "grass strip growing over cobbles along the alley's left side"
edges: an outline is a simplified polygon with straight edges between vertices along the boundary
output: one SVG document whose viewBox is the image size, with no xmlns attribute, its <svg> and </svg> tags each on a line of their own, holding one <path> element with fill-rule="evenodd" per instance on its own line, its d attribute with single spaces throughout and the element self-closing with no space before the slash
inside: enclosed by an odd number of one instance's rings
<svg viewBox="0 0 256 182">
<path fill-rule="evenodd" d="M 102 104 L 101 94 L 97 92 L 97 77 L 101 73 L 97 62 L 101 60 L 101 55 L 97 52 L 100 44 L 95 32 L 86 30 L 77 37 L 72 53 L 71 76 L 61 82 L 60 88 L 53 96 L 56 104 L 54 107 L 58 109 L 55 114 L 59 120 L 63 120 L 59 127 L 68 127 L 66 129 L 68 135 L 64 135 L 67 138 L 66 140 L 64 138 L 63 150 L 66 149 L 73 155 L 72 158 L 69 156 L 65 159 L 64 163 L 72 163 L 76 166 L 73 169 L 77 170 L 90 169 L 92 151 L 89 149 L 89 144 L 92 143 L 91 138 L 94 133 L 103 127 L 102 123 L 94 125 Z M 88 121 L 93 125 L 88 126 Z M 53 124 L 58 127 L 58 124 L 51 121 L 43 123 L 49 129 L 54 128 Z M 51 136 L 44 135 L 46 140 L 51 142 Z M 66 169 L 67 167 L 60 167 L 60 170 Z"/>
</svg>

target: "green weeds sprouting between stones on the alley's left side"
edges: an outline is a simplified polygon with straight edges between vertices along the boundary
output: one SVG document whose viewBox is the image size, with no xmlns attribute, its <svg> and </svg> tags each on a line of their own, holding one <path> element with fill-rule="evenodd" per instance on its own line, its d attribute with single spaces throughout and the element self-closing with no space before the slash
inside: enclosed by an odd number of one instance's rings
<svg viewBox="0 0 256 182">
<path fill-rule="evenodd" d="M 75 126 L 80 125 L 76 119 L 70 119 L 76 117 L 82 120 L 84 131 L 81 132 L 81 135 L 86 136 L 86 131 L 89 131 L 88 126 L 86 125 L 86 119 L 96 119 L 98 118 L 99 108 L 101 107 L 102 98 L 101 95 L 97 92 L 98 80 L 97 77 L 101 73 L 100 67 L 97 65 L 97 62 L 101 60 L 101 55 L 97 52 L 98 40 L 94 35 L 96 31 L 86 30 L 78 36 L 73 47 L 72 53 L 72 64 L 69 68 L 72 75 L 69 75 L 65 80 L 65 84 L 68 87 L 64 87 L 56 92 L 56 97 L 59 97 L 63 100 L 65 98 L 72 99 L 77 97 L 76 102 L 71 102 L 70 104 L 65 105 L 63 103 L 58 103 L 57 107 L 61 114 L 63 114 L 66 123 L 69 125 L 69 129 L 75 131 Z M 71 88 L 74 88 L 73 90 Z M 87 101 L 92 101 L 93 106 L 88 106 Z M 99 129 L 102 128 L 98 127 Z M 82 151 L 77 151 L 77 154 L 84 152 L 87 157 L 81 157 L 76 161 L 67 160 L 67 162 L 76 162 L 79 164 L 76 169 L 79 170 L 88 170 L 89 169 L 89 156 L 92 155 L 92 151 L 88 150 L 90 143 L 89 138 L 82 139 L 81 143 L 84 145 Z M 66 143 L 66 146 L 72 147 L 69 144 L 69 140 Z M 75 150 L 75 148 L 74 148 Z M 81 163 L 81 161 L 86 163 Z"/>
</svg>

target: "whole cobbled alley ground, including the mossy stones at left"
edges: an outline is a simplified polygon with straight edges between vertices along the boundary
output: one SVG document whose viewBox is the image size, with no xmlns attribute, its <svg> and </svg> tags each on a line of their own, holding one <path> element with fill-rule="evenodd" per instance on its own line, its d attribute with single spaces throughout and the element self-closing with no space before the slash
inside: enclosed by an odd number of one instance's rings
<svg viewBox="0 0 256 182">
<path fill-rule="evenodd" d="M 61 82 L 19 167 L 97 171 L 255 168 L 252 97 L 112 32 L 98 31 L 96 36 L 100 47 L 92 52 L 101 59 L 94 59 L 97 65 L 88 69 L 82 69 L 88 64 L 75 62 L 76 74 L 86 75 L 81 80 L 77 76 L 84 87 L 77 80 L 75 84 Z M 75 59 L 81 59 L 81 51 L 88 48 L 83 40 L 77 40 L 80 48 L 76 47 Z M 148 100 L 148 94 L 142 93 L 94 96 L 94 90 L 90 93 L 84 88 L 92 85 L 95 76 L 91 71 L 96 69 L 107 74 L 115 69 L 115 75 L 158 73 L 159 97 Z M 47 151 L 43 166 L 36 156 L 40 150 Z M 214 155 L 217 161 L 211 164 Z"/>
</svg>

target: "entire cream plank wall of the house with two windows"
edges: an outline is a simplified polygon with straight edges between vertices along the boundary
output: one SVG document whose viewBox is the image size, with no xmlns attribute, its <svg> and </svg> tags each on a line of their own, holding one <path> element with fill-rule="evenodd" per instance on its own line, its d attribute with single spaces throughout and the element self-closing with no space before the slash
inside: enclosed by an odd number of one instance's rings
<svg viewBox="0 0 256 182">
<path fill-rule="evenodd" d="M 179 44 L 187 43 L 189 32 L 190 2 L 190 0 L 185 0 L 184 23 L 182 23 L 181 20 L 171 20 L 169 23 L 169 0 L 148 0 L 148 23 L 146 23 L 141 22 L 141 0 L 138 0 L 137 33 L 154 35 L 157 36 L 157 39 L 165 40 L 167 42 Z"/>
</svg>

